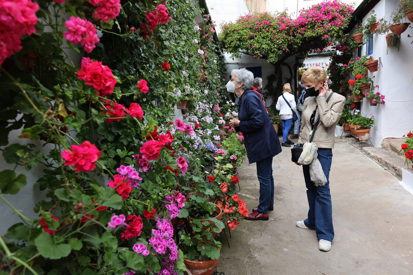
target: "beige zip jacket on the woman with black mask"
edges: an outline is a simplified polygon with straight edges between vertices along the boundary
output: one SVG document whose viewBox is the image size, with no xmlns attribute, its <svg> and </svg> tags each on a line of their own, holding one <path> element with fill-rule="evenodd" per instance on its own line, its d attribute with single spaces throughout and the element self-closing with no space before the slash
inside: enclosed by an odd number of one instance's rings
<svg viewBox="0 0 413 275">
<path fill-rule="evenodd" d="M 320 115 L 320 123 L 317 126 L 316 132 L 314 132 L 313 142 L 317 144 L 318 148 L 334 148 L 335 127 L 343 112 L 346 98 L 334 93 L 327 103 L 326 100 L 331 93 L 332 90 L 329 89 L 324 96 L 311 96 L 304 101 L 304 109 L 301 114 L 302 125 L 298 139 L 299 144 L 310 140 L 310 117 L 318 104 L 315 119 L 317 120 L 318 115 Z"/>
</svg>

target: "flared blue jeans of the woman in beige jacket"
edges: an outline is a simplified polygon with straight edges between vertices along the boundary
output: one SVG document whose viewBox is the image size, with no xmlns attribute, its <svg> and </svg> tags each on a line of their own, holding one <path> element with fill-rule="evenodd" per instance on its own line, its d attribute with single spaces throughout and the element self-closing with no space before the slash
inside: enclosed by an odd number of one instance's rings
<svg viewBox="0 0 413 275">
<path fill-rule="evenodd" d="M 328 176 L 330 174 L 333 153 L 331 148 L 318 148 L 317 153 L 317 158 L 321 163 L 321 167 L 323 167 L 327 183 L 324 186 L 315 186 L 310 179 L 309 165 L 303 165 L 307 199 L 309 201 L 309 214 L 304 224 L 309 228 L 316 229 L 318 239 L 331 242 L 334 238 L 334 229 Z"/>
</svg>

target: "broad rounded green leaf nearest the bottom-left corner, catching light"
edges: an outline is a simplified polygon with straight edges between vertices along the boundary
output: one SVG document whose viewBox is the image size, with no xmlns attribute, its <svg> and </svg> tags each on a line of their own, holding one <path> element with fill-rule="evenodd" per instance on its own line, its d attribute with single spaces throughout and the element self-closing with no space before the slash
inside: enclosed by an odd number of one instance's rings
<svg viewBox="0 0 413 275">
<path fill-rule="evenodd" d="M 60 259 L 70 254 L 69 244 L 57 244 L 47 232 L 40 233 L 34 241 L 39 253 L 49 259 Z"/>
</svg>

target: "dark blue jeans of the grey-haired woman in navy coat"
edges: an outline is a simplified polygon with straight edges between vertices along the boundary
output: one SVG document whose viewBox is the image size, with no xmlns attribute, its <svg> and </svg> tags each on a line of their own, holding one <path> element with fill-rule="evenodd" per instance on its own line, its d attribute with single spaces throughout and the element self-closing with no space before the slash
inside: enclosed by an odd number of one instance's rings
<svg viewBox="0 0 413 275">
<path fill-rule="evenodd" d="M 268 213 L 268 207 L 274 204 L 273 157 L 256 162 L 259 180 L 259 213 Z"/>
</svg>

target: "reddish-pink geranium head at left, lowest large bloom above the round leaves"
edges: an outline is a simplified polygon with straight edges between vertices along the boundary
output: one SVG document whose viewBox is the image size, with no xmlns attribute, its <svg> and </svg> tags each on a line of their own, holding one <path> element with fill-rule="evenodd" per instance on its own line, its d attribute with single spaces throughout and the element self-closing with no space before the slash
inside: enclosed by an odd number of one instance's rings
<svg viewBox="0 0 413 275">
<path fill-rule="evenodd" d="M 72 145 L 70 150 L 71 152 L 65 149 L 62 153 L 62 158 L 65 160 L 64 165 L 74 165 L 73 170 L 78 171 L 78 173 L 95 169 L 96 161 L 102 154 L 90 141 L 85 141 L 80 145 Z"/>
</svg>

